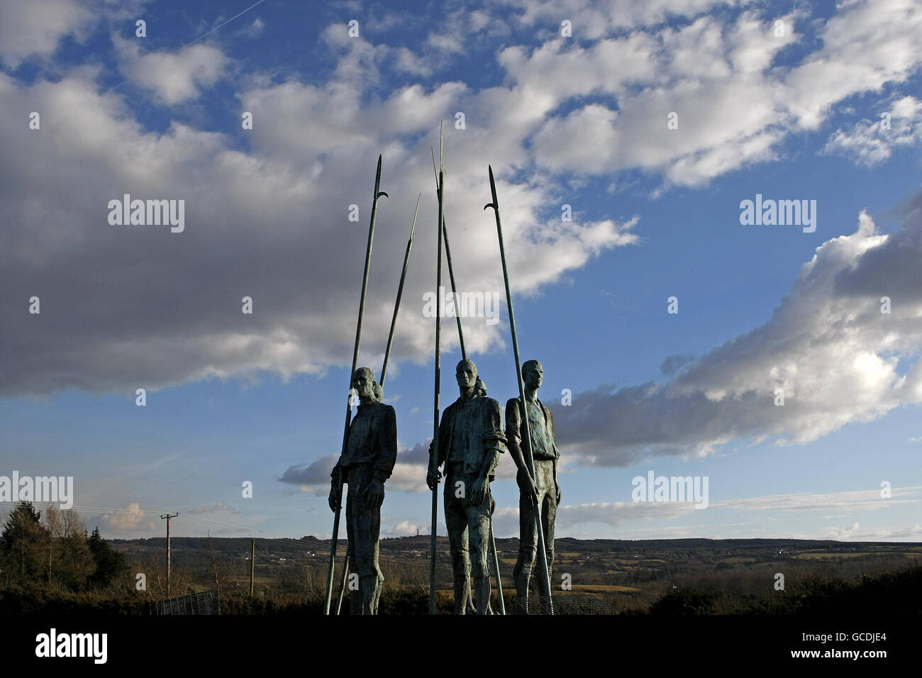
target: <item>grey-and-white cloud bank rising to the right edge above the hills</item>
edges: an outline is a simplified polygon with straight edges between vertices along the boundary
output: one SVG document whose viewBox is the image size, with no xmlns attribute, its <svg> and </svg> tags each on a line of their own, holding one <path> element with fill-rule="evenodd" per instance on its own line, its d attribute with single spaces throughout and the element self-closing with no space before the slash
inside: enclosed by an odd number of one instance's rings
<svg viewBox="0 0 922 678">
<path fill-rule="evenodd" d="M 666 384 L 577 394 L 558 417 L 559 438 L 585 464 L 626 466 L 650 454 L 706 455 L 730 440 L 810 443 L 922 401 L 920 217 L 910 212 L 902 232 L 883 235 L 861 213 L 856 232 L 817 248 L 762 327 Z"/>
</svg>

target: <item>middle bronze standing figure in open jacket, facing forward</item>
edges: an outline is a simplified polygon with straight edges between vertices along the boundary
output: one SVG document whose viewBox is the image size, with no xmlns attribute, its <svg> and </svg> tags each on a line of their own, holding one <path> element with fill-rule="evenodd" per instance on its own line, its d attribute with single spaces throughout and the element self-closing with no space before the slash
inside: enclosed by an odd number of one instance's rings
<svg viewBox="0 0 922 678">
<path fill-rule="evenodd" d="M 442 413 L 439 455 L 430 446 L 426 483 L 435 489 L 444 463 L 444 510 L 452 571 L 455 575 L 455 614 L 467 613 L 470 576 L 474 575 L 474 605 L 478 614 L 491 614 L 490 516 L 493 498 L 490 482 L 504 451 L 502 407 L 479 395 L 477 365 L 462 360 L 455 376 L 460 397 Z"/>
</svg>

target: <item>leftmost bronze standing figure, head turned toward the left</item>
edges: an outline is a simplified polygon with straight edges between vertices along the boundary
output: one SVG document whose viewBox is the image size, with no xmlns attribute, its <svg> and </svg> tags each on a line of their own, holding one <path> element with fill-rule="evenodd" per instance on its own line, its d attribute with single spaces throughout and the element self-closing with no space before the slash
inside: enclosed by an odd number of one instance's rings
<svg viewBox="0 0 922 678">
<path fill-rule="evenodd" d="M 336 511 L 340 468 L 349 484 L 346 497 L 346 534 L 349 564 L 359 575 L 359 589 L 352 591 L 349 612 L 377 614 L 384 575 L 378 566 L 381 505 L 384 482 L 390 478 L 397 458 L 397 426 L 394 408 L 380 400 L 374 373 L 360 367 L 352 375 L 352 387 L 361 404 L 349 424 L 346 451 L 330 474 L 330 508 Z"/>
</svg>

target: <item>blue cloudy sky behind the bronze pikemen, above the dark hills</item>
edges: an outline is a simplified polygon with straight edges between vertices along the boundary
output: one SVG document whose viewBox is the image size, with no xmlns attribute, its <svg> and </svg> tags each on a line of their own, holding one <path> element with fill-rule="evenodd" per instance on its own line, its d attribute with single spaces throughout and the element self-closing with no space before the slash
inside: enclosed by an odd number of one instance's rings
<svg viewBox="0 0 922 678">
<path fill-rule="evenodd" d="M 920 44 L 916 0 L 2 0 L 0 475 L 73 476 L 112 538 L 166 511 L 179 535 L 328 535 L 382 154 L 360 363 L 421 194 L 383 532 L 428 533 L 444 121 L 455 277 L 488 297 L 496 174 L 558 536 L 922 541 Z M 113 224 L 125 194 L 182 199 L 183 231 Z M 757 199 L 811 221 L 742 223 Z M 498 319 L 464 329 L 504 403 Z M 706 477 L 709 506 L 633 502 L 650 471 Z M 508 457 L 494 494 L 512 536 Z"/>
</svg>

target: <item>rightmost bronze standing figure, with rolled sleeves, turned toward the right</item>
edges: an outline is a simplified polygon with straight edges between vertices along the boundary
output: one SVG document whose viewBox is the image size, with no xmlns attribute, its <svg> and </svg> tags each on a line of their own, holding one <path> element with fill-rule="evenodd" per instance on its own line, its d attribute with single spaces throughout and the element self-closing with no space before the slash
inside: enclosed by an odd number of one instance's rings
<svg viewBox="0 0 922 678">
<path fill-rule="evenodd" d="M 554 435 L 554 417 L 550 409 L 538 399 L 538 387 L 544 378 L 544 369 L 537 360 L 522 365 L 522 379 L 525 382 L 528 425 L 531 431 L 531 449 L 535 461 L 535 477 L 528 472 L 522 454 L 522 405 L 520 398 L 510 398 L 506 403 L 506 441 L 509 454 L 518 468 L 515 480 L 519 486 L 519 556 L 515 563 L 513 577 L 518 596 L 516 613 L 528 613 L 528 579 L 535 566 L 538 553 L 538 529 L 536 508 L 540 509 L 541 527 L 544 532 L 545 553 L 548 558 L 548 577 L 554 563 L 554 521 L 557 506 L 561 503 L 561 485 L 557 480 L 557 460 L 561 457 Z M 544 577 L 538 577 L 538 595 L 550 598 Z"/>
</svg>

